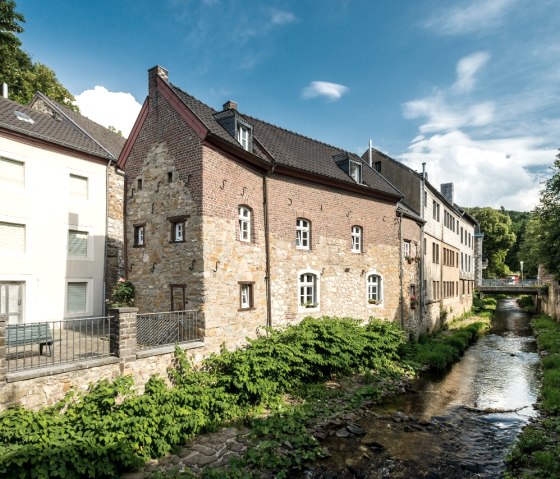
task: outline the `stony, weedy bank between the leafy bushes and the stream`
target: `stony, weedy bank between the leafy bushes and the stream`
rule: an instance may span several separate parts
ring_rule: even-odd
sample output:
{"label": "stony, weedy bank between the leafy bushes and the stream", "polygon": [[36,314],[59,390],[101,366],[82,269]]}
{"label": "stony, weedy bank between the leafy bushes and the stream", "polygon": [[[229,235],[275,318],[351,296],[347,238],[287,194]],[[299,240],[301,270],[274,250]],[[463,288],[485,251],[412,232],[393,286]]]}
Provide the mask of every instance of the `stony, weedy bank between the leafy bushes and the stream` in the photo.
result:
{"label": "stony, weedy bank between the leafy bushes and the stream", "polygon": [[[420,371],[445,369],[489,325],[489,314],[456,320],[435,336],[407,344],[396,363],[387,363],[386,369],[303,385],[284,395],[265,416],[244,421],[235,430],[223,429],[196,438],[176,454],[151,461],[143,471],[129,477],[295,477],[304,462],[330,456],[328,444],[332,441],[344,441],[352,447],[366,434],[357,423],[368,409],[406,393]],[[379,418],[385,419],[404,430],[438,433],[445,429],[437,421],[419,421],[412,416]]]}

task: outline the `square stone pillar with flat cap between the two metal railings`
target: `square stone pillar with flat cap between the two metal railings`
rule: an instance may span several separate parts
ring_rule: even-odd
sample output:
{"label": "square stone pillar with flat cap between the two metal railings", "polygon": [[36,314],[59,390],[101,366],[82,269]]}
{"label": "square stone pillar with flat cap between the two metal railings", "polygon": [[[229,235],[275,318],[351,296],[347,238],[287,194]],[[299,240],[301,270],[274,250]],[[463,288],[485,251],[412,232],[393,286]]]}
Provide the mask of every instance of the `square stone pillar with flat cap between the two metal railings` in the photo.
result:
{"label": "square stone pillar with flat cap between the two metal railings", "polygon": [[136,318],[138,308],[114,308],[111,314],[109,351],[120,358],[123,374],[128,363],[136,361]]}

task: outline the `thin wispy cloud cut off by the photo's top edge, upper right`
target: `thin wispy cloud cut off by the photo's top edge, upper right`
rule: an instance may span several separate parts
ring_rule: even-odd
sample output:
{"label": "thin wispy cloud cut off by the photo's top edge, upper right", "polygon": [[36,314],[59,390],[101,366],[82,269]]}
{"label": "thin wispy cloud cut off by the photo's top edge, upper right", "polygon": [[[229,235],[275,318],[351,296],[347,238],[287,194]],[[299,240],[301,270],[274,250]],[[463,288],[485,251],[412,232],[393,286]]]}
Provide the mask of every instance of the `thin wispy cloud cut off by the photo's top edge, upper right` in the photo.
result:
{"label": "thin wispy cloud cut off by the photo's top edge, upper right", "polygon": [[463,35],[490,31],[504,21],[517,0],[476,0],[465,6],[438,9],[438,13],[424,22],[429,30],[441,35]]}

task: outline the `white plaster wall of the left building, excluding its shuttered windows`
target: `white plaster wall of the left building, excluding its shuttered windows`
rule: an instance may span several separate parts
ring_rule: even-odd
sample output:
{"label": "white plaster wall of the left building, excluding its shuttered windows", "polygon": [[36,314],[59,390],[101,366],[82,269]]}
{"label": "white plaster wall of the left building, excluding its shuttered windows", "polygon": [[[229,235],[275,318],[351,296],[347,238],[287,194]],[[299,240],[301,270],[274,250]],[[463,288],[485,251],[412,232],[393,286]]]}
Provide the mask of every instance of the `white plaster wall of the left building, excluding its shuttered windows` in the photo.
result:
{"label": "white plaster wall of the left building, excluding its shuttered windows", "polygon": [[[0,312],[11,313],[10,323],[101,315],[107,161],[4,136],[0,158],[19,162],[24,170],[23,185],[0,177],[0,223],[25,229],[22,250],[0,250]],[[71,193],[71,175],[86,179],[85,198]],[[69,257],[69,230],[87,233],[85,257]],[[69,282],[85,283],[83,310],[68,311]]]}

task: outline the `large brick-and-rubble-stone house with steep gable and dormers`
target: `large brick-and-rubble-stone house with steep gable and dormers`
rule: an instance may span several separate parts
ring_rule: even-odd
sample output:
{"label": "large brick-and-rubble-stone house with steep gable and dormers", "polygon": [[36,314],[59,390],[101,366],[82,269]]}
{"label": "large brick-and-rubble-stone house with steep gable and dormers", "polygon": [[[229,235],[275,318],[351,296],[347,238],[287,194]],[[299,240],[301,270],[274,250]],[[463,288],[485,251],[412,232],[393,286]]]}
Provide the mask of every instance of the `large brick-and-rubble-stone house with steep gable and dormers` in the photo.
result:
{"label": "large brick-and-rubble-stone house with steep gable and dormers", "polygon": [[200,309],[211,349],[306,316],[422,329],[418,263],[405,256],[419,254],[423,221],[394,186],[235,102],[212,109],[159,66],[148,79],[119,158],[140,311]]}

